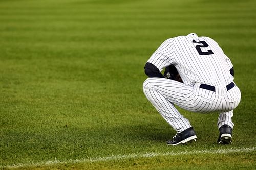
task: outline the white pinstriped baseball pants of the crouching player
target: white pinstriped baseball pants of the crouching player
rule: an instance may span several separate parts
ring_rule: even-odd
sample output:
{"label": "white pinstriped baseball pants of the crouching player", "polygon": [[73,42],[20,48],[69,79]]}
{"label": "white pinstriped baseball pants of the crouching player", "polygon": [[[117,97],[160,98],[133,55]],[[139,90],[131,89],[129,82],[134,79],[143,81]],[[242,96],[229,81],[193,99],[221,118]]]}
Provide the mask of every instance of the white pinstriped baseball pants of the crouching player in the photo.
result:
{"label": "white pinstriped baseball pants of the crouching player", "polygon": [[143,92],[162,117],[177,132],[182,132],[191,125],[174,104],[192,112],[207,113],[220,111],[217,125],[226,124],[233,128],[233,109],[241,100],[237,86],[228,90],[216,87],[216,92],[199,88],[200,84],[188,86],[178,81],[165,78],[148,78],[143,83]]}

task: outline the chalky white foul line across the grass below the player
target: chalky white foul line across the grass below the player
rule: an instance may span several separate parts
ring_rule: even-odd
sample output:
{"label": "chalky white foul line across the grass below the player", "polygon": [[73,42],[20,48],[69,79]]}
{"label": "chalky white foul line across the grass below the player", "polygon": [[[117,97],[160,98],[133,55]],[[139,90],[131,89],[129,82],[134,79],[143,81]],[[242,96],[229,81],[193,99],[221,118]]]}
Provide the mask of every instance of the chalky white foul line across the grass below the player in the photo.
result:
{"label": "chalky white foul line across the grass below the player", "polygon": [[194,150],[194,151],[182,151],[182,152],[165,152],[165,153],[157,153],[157,152],[148,152],[143,154],[128,154],[128,155],[111,155],[107,157],[96,157],[96,158],[83,158],[83,159],[70,159],[66,161],[41,161],[41,162],[28,162],[28,163],[20,163],[13,165],[0,166],[0,168],[24,168],[24,167],[42,167],[42,166],[50,166],[56,164],[74,164],[74,163],[92,163],[92,162],[105,162],[112,160],[122,160],[122,159],[133,159],[133,158],[151,158],[157,156],[178,156],[178,155],[195,155],[195,154],[227,154],[227,153],[238,153],[238,152],[253,152],[256,151],[255,147],[252,148],[229,148],[229,149],[217,149],[217,150]]}

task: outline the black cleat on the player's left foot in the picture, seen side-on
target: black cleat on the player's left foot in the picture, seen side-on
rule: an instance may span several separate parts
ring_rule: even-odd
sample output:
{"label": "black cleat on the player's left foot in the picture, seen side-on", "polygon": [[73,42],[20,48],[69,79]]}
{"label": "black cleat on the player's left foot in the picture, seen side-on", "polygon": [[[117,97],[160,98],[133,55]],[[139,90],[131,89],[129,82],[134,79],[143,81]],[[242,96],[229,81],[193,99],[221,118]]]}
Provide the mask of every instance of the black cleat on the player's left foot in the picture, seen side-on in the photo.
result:
{"label": "black cleat on the player's left foot in the picture, seen side-on", "polygon": [[193,127],[188,128],[180,133],[177,133],[174,137],[173,140],[169,140],[167,141],[168,145],[178,145],[178,144],[184,144],[187,142],[192,142],[192,141],[196,141],[197,140],[197,136],[195,131],[193,130]]}

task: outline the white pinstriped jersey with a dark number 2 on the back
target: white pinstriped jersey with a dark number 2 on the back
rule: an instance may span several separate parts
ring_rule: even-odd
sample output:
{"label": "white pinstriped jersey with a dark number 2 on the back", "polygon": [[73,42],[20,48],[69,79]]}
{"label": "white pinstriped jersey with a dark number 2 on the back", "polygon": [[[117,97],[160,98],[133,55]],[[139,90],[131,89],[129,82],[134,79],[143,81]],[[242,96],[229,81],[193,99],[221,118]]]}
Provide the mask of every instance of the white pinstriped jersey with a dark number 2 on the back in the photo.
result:
{"label": "white pinstriped jersey with a dark number 2 on the back", "polygon": [[191,33],[167,39],[148,59],[161,72],[175,65],[184,84],[204,83],[223,87],[233,81],[229,70],[233,67],[216,41]]}

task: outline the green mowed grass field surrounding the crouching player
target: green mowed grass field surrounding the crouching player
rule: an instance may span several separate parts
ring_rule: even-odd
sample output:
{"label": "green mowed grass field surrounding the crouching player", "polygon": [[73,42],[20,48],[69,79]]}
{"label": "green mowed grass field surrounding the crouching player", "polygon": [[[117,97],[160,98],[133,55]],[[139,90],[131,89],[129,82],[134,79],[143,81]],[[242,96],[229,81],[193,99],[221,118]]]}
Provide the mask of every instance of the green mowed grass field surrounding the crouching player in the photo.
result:
{"label": "green mowed grass field surrounding the crouching player", "polygon": [[[198,140],[167,146],[143,94],[150,55],[191,32],[234,65],[232,145],[180,110]],[[0,169],[256,169],[255,44],[255,1],[0,0]]]}

